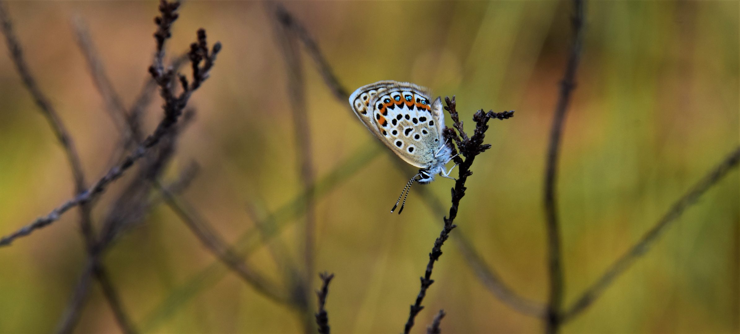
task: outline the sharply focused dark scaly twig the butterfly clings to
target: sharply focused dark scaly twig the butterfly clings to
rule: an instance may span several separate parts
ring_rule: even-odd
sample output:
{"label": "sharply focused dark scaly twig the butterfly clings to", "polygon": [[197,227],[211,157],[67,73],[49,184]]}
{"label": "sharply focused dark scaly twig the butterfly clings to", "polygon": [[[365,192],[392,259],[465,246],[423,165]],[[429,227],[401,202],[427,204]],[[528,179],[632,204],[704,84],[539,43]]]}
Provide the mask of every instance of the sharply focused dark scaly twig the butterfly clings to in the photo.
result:
{"label": "sharply focused dark scaly twig the butterfly clings to", "polygon": [[[455,143],[457,143],[457,148],[460,149],[460,154],[465,157],[465,160],[462,160],[462,157],[460,156],[455,156],[453,159],[454,162],[458,166],[460,166],[460,176],[455,181],[455,187],[452,188],[452,205],[450,207],[449,218],[444,217],[445,225],[440,232],[440,236],[437,238],[437,240],[434,241],[434,247],[431,248],[431,253],[429,253],[429,262],[426,265],[424,277],[421,278],[421,290],[417,295],[416,302],[411,305],[411,310],[408,313],[408,321],[406,321],[406,326],[403,329],[403,333],[405,334],[411,332],[411,327],[414,327],[414,318],[416,318],[417,314],[424,308],[423,306],[421,306],[421,303],[424,299],[424,296],[426,296],[426,290],[432,283],[434,283],[434,280],[431,279],[431,270],[434,268],[434,262],[437,261],[437,259],[440,259],[440,256],[442,255],[442,245],[444,244],[445,240],[447,240],[452,229],[457,227],[457,225],[454,225],[453,222],[455,217],[457,217],[457,210],[458,206],[460,205],[460,200],[462,199],[462,197],[465,196],[465,189],[467,189],[465,188],[465,181],[468,180],[468,177],[473,174],[473,172],[470,171],[470,167],[478,154],[481,154],[485,150],[491,148],[490,144],[483,144],[485,131],[488,130],[488,120],[490,120],[491,118],[505,119],[514,116],[513,111],[485,113],[481,109],[473,115],[473,120],[475,121],[476,126],[473,136],[468,137],[468,134],[466,134],[465,131],[462,129],[462,122],[460,122],[460,119],[457,115],[454,96],[452,97],[452,100],[445,97],[445,103],[447,103],[447,106],[445,106],[445,110],[450,112],[450,116],[454,121],[453,126],[455,129],[457,129],[457,132],[455,132],[455,129],[445,128],[443,132],[445,140],[449,140],[449,146],[452,149],[451,154],[453,155],[457,153],[457,150],[454,149],[454,146],[451,142],[454,141]],[[458,132],[460,135],[458,135]]]}

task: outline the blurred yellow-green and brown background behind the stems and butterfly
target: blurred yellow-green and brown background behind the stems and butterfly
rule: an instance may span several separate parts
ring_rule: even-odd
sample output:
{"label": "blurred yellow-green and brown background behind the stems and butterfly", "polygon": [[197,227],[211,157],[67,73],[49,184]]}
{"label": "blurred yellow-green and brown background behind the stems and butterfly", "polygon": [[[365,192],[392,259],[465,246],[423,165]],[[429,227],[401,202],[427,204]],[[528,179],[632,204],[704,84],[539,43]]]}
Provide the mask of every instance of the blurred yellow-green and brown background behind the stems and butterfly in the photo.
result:
{"label": "blurred yellow-green and brown background behind the stems and butterfly", "polygon": [[[75,42],[73,16],[90,27],[126,105],[148,78],[156,1],[11,1],[16,32],[42,89],[81,153],[88,180],[110,166],[118,132]],[[289,1],[347,89],[411,81],[476,109],[514,109],[492,120],[468,179],[453,234],[471,240],[517,293],[547,296],[542,183],[545,148],[571,28],[559,1]],[[671,203],[740,140],[738,1],[591,1],[578,86],[565,124],[559,178],[565,304],[655,224]],[[249,256],[276,281],[300,262],[301,193],[286,66],[258,1],[188,1],[168,44],[195,30],[221,41],[211,78],[166,177],[192,160],[201,172],[184,198],[229,242],[280,217],[280,234]],[[0,234],[47,214],[73,193],[61,147],[7,53],[0,52]],[[335,333],[398,333],[441,217],[412,189],[403,214],[388,209],[407,180],[377,140],[323,83],[303,54],[317,180],[316,270],[335,273],[327,309]],[[161,118],[147,111],[147,132]],[[449,118],[447,120],[450,122]],[[124,180],[126,180],[124,178]],[[120,182],[124,182],[123,180]],[[321,182],[321,181],[320,181]],[[445,203],[451,180],[425,190]],[[420,188],[420,187],[419,187]],[[644,258],[565,333],[737,333],[739,177],[731,172],[687,210]],[[95,219],[121,186],[96,204]],[[84,265],[78,211],[0,249],[0,332],[53,331]],[[249,232],[252,231],[252,232]],[[269,247],[285,248],[278,265]],[[443,248],[414,332],[440,308],[445,333],[536,333],[538,318],[502,304],[477,280],[454,239]],[[300,318],[229,273],[165,205],[106,254],[113,282],[145,333],[295,333]],[[314,281],[312,286],[318,287]],[[312,301],[313,303],[314,301]],[[78,333],[118,327],[97,285]]]}

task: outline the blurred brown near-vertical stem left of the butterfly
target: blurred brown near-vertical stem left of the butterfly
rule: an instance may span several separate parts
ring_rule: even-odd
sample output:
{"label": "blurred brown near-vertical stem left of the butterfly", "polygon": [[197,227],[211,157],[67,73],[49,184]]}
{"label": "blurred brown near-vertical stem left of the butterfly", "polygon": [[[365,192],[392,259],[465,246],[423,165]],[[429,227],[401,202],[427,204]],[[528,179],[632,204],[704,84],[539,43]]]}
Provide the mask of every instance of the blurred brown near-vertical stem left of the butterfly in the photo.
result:
{"label": "blurred brown near-vertical stem left of the butterfly", "polygon": [[[309,127],[309,117],[306,112],[306,89],[303,78],[303,66],[300,59],[300,50],[298,48],[297,33],[290,29],[292,18],[286,16],[286,11],[279,4],[267,2],[266,7],[269,13],[275,17],[275,37],[280,45],[281,53],[285,58],[286,69],[288,72],[287,94],[293,112],[293,129],[295,130],[295,145],[299,161],[300,180],[303,188],[308,190],[312,188],[315,182],[313,170],[313,157],[311,149],[311,129]],[[306,196],[306,228],[303,240],[303,262],[304,275],[303,282],[297,282],[301,289],[297,289],[298,295],[296,302],[306,307],[309,312],[309,287],[312,286],[314,276],[314,235],[315,235],[315,200],[313,194],[307,192]],[[299,236],[300,237],[300,236]],[[303,291],[300,291],[303,290]],[[303,295],[303,296],[300,296]],[[310,327],[313,327],[310,325]],[[309,324],[306,324],[306,333]]]}

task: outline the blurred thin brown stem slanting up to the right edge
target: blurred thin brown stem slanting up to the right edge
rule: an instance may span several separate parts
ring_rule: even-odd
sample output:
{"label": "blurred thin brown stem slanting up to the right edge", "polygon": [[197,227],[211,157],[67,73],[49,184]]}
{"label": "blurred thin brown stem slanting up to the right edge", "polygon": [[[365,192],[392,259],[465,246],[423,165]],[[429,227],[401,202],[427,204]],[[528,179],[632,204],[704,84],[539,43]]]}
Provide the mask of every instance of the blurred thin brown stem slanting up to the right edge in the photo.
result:
{"label": "blurred thin brown stem slanting up to the right edge", "polygon": [[656,223],[650,231],[647,231],[642,239],[637,242],[627,253],[616,260],[605,273],[581,295],[571,307],[563,312],[562,322],[570,321],[582,313],[589,305],[596,301],[614,280],[624,273],[628,268],[645,255],[650,247],[662,236],[665,231],[676,221],[691,205],[695,204],[709,188],[722,179],[728,172],[738,166],[740,162],[740,146],[724,158],[707,175],[702,177],[686,194],[673,203],[665,215]]}

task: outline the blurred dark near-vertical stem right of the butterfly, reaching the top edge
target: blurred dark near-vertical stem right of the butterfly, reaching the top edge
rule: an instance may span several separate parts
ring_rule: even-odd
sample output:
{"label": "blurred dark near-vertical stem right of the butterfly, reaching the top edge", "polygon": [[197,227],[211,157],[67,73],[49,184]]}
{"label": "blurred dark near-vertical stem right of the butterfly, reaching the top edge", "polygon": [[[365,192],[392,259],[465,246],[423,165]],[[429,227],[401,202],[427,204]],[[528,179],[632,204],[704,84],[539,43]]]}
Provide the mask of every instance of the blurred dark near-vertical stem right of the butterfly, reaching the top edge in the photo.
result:
{"label": "blurred dark near-vertical stem right of the butterfly, reaching the top edge", "polygon": [[560,81],[560,95],[555,107],[555,114],[548,143],[547,163],[545,165],[545,217],[548,239],[548,273],[550,296],[547,312],[543,317],[545,332],[556,333],[560,327],[560,308],[563,296],[562,255],[560,252],[560,231],[557,213],[557,164],[560,151],[560,140],[565,123],[565,114],[576,86],[576,69],[581,55],[583,39],[583,0],[573,0],[573,45],[568,55],[565,75]]}

